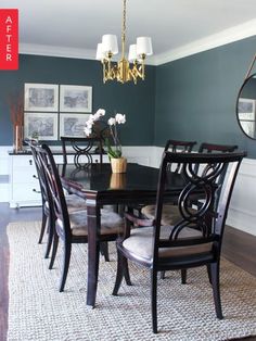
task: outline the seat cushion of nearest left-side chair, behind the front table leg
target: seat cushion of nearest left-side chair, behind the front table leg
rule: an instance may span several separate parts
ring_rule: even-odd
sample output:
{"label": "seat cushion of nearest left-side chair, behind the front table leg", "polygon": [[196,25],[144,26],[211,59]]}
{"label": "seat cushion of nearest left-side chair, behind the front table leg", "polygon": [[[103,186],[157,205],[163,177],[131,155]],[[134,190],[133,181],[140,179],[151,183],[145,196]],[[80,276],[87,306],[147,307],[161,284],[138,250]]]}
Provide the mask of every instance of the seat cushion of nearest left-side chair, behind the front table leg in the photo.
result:
{"label": "seat cushion of nearest left-side chair, behind the front table leg", "polygon": [[[73,236],[87,236],[87,211],[69,213],[71,229]],[[101,235],[118,235],[124,229],[124,219],[119,214],[101,210]]]}

